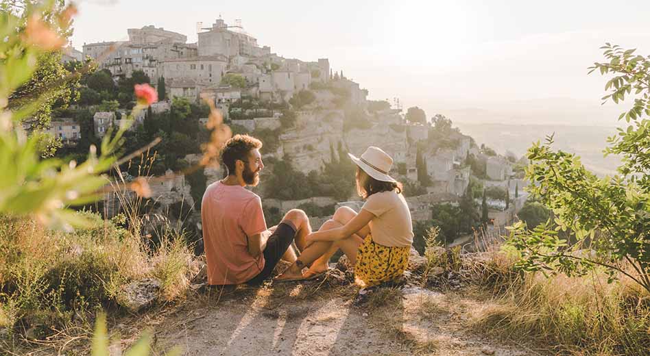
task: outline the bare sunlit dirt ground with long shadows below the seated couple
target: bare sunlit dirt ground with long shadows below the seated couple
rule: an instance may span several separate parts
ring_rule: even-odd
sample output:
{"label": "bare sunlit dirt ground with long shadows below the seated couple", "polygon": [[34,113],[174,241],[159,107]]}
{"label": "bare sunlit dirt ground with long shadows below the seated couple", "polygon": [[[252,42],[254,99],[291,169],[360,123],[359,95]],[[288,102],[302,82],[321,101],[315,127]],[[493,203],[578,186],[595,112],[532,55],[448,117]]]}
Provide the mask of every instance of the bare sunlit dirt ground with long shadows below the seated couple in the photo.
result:
{"label": "bare sunlit dirt ground with long shadows below the seated couple", "polygon": [[154,353],[184,355],[538,355],[468,331],[481,307],[459,293],[385,288],[354,305],[354,288],[319,283],[199,294],[156,329]]}

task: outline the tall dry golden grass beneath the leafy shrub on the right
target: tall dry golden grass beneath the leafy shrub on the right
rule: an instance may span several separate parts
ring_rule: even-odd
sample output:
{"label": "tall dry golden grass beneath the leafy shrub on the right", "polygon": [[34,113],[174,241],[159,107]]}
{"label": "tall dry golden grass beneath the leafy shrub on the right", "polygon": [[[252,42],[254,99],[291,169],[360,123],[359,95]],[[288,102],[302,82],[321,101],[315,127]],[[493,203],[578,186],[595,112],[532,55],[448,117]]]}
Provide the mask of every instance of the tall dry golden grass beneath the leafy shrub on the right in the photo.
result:
{"label": "tall dry golden grass beneath the leafy shrub on the right", "polygon": [[604,272],[546,278],[514,271],[506,253],[483,257],[474,281],[492,301],[473,313],[478,332],[570,355],[650,354],[650,296],[630,281],[607,283]]}

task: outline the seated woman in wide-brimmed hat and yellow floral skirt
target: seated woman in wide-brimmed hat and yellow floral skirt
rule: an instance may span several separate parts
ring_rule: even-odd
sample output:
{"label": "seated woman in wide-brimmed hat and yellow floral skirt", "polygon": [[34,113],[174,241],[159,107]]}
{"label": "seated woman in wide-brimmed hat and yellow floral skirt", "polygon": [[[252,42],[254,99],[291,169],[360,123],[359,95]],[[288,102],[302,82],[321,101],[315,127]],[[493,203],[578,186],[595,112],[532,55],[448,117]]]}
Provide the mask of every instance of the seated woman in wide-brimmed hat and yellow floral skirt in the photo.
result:
{"label": "seated woman in wide-brimmed hat and yellow floral skirt", "polygon": [[[413,224],[402,185],[388,175],[392,158],[377,147],[368,147],[360,158],[348,155],[357,164],[357,192],[365,199],[361,211],[337,209],[332,220],[306,237],[306,249],[277,281],[321,275],[338,249],[348,256],[357,282],[365,288],[400,277],[407,268]],[[303,273],[306,266],[311,267]]]}

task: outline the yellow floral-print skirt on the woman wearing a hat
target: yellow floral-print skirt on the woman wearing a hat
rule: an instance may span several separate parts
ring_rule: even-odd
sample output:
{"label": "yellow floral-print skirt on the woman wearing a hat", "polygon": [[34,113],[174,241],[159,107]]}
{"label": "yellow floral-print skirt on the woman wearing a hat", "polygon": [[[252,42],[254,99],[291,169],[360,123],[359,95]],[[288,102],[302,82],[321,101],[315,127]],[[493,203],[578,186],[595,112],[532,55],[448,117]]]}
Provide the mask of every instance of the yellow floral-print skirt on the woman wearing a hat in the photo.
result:
{"label": "yellow floral-print skirt on the woman wearing a hat", "polygon": [[370,233],[357,251],[354,277],[365,287],[372,287],[400,277],[409,266],[411,247],[382,246],[372,240]]}

